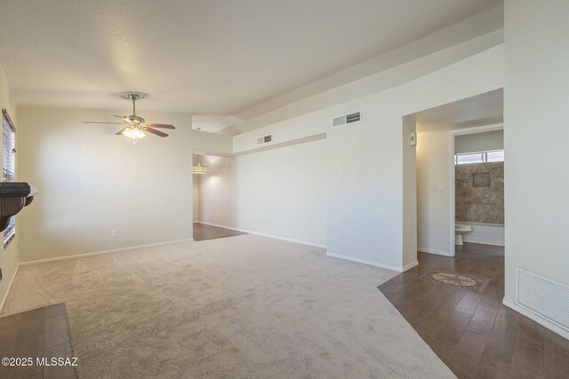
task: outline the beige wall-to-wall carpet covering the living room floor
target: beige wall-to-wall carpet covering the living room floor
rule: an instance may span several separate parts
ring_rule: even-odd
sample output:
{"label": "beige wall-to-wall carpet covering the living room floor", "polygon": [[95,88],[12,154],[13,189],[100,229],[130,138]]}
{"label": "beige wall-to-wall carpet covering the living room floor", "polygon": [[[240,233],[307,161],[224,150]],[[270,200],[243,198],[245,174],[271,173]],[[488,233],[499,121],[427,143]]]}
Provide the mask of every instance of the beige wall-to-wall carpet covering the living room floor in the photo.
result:
{"label": "beige wall-to-wall carpet covering the living room floor", "polygon": [[242,235],[23,265],[3,312],[65,302],[82,378],[454,377],[394,274]]}

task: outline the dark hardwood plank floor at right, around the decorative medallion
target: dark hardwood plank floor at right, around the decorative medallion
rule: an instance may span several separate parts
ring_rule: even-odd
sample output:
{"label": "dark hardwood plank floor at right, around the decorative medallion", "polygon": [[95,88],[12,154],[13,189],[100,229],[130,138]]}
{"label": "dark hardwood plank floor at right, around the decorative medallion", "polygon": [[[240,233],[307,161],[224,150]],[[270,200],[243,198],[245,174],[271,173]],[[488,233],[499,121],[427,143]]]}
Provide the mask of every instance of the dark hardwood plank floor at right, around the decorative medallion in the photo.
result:
{"label": "dark hardwood plank floor at right, around the decorative medallion", "polygon": [[[381,292],[459,378],[569,378],[569,341],[501,304],[503,248],[466,243],[456,257],[419,253],[419,265]],[[490,280],[482,294],[421,276],[434,268]]]}

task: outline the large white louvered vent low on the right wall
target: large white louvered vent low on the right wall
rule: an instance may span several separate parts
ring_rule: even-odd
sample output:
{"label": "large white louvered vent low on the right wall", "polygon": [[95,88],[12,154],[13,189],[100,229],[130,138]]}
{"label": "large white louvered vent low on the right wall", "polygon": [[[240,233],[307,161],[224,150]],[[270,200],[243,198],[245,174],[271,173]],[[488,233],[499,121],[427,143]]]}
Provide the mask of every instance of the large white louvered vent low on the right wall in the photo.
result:
{"label": "large white louvered vent low on the right wall", "polygon": [[569,331],[569,286],[516,270],[517,304]]}

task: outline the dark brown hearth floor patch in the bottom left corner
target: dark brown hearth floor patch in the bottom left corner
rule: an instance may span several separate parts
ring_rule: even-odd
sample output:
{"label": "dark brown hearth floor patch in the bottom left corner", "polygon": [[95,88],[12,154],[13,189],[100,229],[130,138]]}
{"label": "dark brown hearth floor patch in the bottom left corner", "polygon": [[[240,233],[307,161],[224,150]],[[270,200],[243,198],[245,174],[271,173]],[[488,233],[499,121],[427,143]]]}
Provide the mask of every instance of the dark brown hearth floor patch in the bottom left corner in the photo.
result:
{"label": "dark brown hearth floor patch in the bottom left corner", "polygon": [[[66,363],[65,359],[72,362],[72,357],[63,304],[0,318],[0,358],[30,359],[26,366],[1,365],[0,378],[75,378],[75,367],[59,366],[57,361],[53,365],[51,360],[64,359],[61,362]],[[47,364],[38,362],[37,358],[46,359]]]}

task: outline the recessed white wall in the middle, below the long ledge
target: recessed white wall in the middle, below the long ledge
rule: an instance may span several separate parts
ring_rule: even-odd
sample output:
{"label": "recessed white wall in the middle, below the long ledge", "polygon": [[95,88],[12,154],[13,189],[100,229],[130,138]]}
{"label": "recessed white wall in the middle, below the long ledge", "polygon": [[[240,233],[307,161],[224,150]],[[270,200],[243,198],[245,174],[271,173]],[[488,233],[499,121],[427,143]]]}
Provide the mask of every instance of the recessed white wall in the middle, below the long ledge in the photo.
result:
{"label": "recessed white wall in the middle, below the long ledge", "polygon": [[325,139],[223,157],[200,155],[199,221],[325,246]]}

